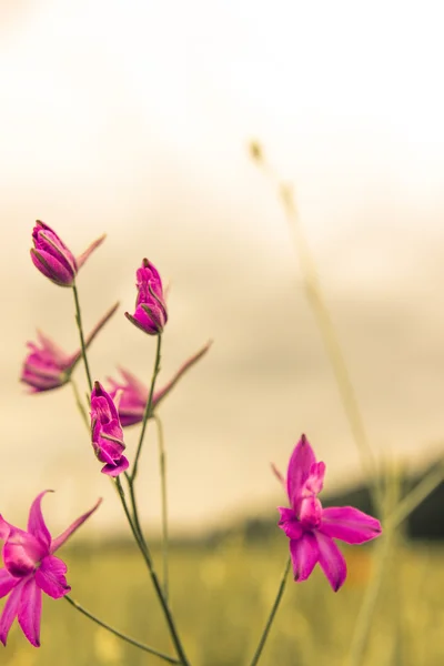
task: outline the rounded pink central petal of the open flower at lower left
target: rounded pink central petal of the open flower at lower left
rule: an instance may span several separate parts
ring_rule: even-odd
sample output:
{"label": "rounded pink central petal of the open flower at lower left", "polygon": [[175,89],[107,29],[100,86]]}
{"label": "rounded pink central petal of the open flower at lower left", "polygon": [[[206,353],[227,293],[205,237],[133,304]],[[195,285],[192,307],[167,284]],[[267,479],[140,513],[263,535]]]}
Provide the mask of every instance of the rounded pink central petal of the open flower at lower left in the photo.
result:
{"label": "rounded pink central petal of the open flower at lower left", "polygon": [[3,563],[13,576],[32,573],[40,559],[47,555],[46,546],[32,534],[12,527],[3,546]]}

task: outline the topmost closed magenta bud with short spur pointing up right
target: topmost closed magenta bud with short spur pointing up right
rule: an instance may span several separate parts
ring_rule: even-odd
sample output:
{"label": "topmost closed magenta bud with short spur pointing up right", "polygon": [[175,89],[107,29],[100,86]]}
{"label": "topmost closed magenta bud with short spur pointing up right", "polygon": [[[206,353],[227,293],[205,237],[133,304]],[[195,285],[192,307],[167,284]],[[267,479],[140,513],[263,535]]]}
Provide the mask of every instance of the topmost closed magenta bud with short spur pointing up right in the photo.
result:
{"label": "topmost closed magenta bud with short spur pointing up right", "polygon": [[91,252],[104,240],[104,234],[97,239],[77,259],[67,248],[58,234],[44,222],[37,220],[32,230],[34,246],[31,249],[31,259],[34,266],[49,280],[60,286],[72,286],[79,269],[84,264]]}

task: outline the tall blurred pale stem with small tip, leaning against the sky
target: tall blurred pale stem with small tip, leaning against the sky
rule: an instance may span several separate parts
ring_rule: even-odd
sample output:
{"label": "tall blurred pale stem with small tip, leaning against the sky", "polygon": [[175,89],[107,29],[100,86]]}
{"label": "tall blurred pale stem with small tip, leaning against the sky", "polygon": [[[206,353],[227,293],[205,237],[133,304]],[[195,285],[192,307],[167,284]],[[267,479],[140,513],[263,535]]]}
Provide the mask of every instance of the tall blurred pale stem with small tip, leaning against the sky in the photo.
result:
{"label": "tall blurred pale stem with small tip, leaning against the sky", "polygon": [[382,491],[380,487],[374,455],[365,431],[364,421],[357,404],[353,384],[350,379],[345,357],[342,353],[333,321],[322,293],[315,262],[310,252],[309,244],[302,230],[296,203],[294,201],[293,190],[290,184],[281,181],[281,179],[266,162],[260,143],[250,143],[250,154],[278,188],[279,198],[284,206],[285,215],[293,235],[294,248],[300,260],[306,297],[317,322],[321,337],[334,372],[342,404],[344,406],[354,441],[361,454],[364,471],[370,480],[370,483],[372,484],[371,492],[374,504],[377,511],[381,512]]}

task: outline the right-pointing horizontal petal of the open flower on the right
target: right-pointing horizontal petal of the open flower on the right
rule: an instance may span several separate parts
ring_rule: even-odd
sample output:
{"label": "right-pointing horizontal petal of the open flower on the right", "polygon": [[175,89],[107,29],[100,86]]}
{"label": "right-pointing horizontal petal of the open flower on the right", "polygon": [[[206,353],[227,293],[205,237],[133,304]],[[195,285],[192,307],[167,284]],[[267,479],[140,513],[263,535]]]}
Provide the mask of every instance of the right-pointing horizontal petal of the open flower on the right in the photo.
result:
{"label": "right-pointing horizontal petal of the open flower on the right", "polygon": [[320,532],[347,544],[363,544],[382,532],[381,523],[353,506],[324,508]]}

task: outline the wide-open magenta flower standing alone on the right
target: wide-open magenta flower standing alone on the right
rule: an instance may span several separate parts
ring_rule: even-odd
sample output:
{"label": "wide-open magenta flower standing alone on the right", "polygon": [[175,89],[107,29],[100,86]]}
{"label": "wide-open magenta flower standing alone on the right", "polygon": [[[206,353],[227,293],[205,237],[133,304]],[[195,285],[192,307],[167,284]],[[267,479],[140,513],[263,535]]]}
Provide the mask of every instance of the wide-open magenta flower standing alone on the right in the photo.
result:
{"label": "wide-open magenta flower standing alone on the right", "polygon": [[337,592],[346,577],[346,564],[333,539],[362,544],[380,536],[381,523],[352,506],[323,508],[317,493],[322,491],[324,474],[325,464],[316,463],[309,441],[302,435],[286,473],[290,508],[279,507],[279,526],[290,538],[294,579],[306,581],[319,562]]}

